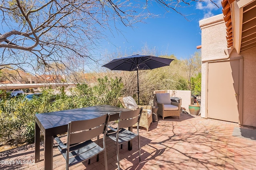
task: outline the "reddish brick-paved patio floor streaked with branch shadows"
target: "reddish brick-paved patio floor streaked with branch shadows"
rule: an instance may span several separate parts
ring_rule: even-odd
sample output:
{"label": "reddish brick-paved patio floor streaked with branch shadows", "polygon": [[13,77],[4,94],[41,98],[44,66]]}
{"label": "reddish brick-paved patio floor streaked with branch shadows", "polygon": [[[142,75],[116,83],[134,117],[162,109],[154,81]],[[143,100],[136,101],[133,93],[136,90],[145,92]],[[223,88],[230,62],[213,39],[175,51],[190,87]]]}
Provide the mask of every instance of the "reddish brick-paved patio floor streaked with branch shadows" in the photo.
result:
{"label": "reddish brick-paved patio floor streaked with branch shadows", "polygon": [[[251,139],[233,136],[234,128],[251,129]],[[134,129],[135,130],[135,129]],[[250,136],[248,136],[250,137]],[[256,169],[256,129],[239,126],[237,123],[202,119],[198,116],[181,113],[180,119],[159,117],[150,125],[147,132],[140,129],[142,161],[138,159],[138,143],[133,142],[133,150],[124,144],[120,149],[120,166],[123,170],[184,170]],[[116,149],[106,138],[108,169],[117,169]],[[0,169],[44,169],[43,143],[40,146],[40,162],[34,163],[34,144],[0,152]],[[53,150],[53,168],[65,169],[65,160],[57,147]],[[13,164],[4,164],[10,163]],[[25,161],[25,162],[24,162]],[[27,162],[26,162],[27,161]],[[70,169],[104,169],[104,156],[77,164]]]}

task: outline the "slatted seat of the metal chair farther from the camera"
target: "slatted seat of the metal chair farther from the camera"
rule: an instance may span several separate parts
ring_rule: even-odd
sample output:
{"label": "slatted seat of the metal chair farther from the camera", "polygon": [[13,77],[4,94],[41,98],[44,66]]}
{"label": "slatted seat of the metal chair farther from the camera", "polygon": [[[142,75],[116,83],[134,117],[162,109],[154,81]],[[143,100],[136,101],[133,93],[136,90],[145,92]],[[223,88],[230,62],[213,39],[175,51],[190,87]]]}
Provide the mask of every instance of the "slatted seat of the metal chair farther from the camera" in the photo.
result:
{"label": "slatted seat of the metal chair farther from the camera", "polygon": [[[106,136],[112,139],[113,141],[116,141],[116,133],[117,132],[114,130],[108,130]],[[126,129],[120,129],[118,134],[118,145],[130,141],[131,139],[134,139],[134,137],[136,136],[138,136],[138,134],[132,133],[131,131],[128,131]]]}

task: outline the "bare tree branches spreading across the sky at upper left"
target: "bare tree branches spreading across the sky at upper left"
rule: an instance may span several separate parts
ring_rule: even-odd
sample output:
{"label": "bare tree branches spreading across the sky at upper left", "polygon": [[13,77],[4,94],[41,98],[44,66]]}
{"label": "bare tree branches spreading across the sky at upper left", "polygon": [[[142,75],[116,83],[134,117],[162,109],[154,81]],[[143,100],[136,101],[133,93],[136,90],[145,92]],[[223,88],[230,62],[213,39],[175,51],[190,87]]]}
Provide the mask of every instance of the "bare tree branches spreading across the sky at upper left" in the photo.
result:
{"label": "bare tree branches spreading across the sky at upper left", "polygon": [[186,18],[178,9],[191,1],[201,0],[2,0],[0,69],[45,70],[75,60],[84,69],[100,60],[92,53],[106,39],[105,31],[122,34],[117,23],[132,26],[153,17],[148,7],[156,3]]}

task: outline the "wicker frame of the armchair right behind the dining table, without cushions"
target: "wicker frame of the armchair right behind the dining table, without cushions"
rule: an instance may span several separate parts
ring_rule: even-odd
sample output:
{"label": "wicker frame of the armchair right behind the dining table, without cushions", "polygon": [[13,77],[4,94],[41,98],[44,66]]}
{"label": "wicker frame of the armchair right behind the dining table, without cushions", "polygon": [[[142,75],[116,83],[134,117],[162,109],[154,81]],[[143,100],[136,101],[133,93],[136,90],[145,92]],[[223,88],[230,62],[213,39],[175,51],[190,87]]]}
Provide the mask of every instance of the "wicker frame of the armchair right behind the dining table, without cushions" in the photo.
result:
{"label": "wicker frame of the armchair right behind the dining table, without cushions", "polygon": [[[120,97],[118,99],[120,100],[122,106],[124,108],[127,108],[126,104],[124,104],[123,98],[124,97]],[[141,117],[140,117],[140,127],[144,127],[148,131],[150,124],[153,122],[153,120],[152,120],[152,106],[146,106],[146,105],[145,106],[137,105],[137,106],[139,108],[143,107],[142,114],[141,114]],[[134,109],[136,109],[136,108],[134,108]],[[151,110],[150,115],[148,114],[148,110]],[[135,125],[133,125],[133,127],[137,127],[137,123]]]}

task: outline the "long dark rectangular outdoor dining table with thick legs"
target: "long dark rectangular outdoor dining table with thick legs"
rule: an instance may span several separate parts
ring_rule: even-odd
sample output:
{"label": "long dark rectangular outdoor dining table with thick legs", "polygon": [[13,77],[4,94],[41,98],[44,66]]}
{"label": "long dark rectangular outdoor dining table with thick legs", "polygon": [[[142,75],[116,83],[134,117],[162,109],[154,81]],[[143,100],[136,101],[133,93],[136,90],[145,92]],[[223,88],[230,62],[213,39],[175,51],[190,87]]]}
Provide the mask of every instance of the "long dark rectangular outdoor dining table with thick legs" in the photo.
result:
{"label": "long dark rectangular outdoor dining table with thick legs", "polygon": [[[54,135],[66,133],[69,121],[93,119],[107,113],[110,113],[110,121],[113,121],[118,119],[120,111],[129,111],[129,109],[100,105],[36,114],[35,162],[40,161],[40,131],[44,135],[44,169],[51,170]],[[132,127],[129,130],[132,131]],[[128,143],[128,149],[132,150],[132,142]]]}

